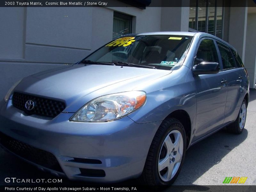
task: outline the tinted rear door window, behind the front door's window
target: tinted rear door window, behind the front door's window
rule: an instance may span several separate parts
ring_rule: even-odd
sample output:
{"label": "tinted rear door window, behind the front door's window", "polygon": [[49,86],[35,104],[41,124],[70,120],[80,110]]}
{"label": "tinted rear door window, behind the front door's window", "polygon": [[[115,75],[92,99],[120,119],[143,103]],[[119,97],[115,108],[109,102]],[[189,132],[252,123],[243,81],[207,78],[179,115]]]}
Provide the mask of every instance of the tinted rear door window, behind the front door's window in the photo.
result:
{"label": "tinted rear door window, behind the front door's window", "polygon": [[236,61],[234,60],[229,47],[220,42],[217,42],[217,45],[220,50],[223,69],[236,68]]}

